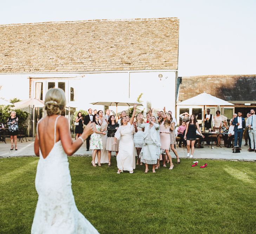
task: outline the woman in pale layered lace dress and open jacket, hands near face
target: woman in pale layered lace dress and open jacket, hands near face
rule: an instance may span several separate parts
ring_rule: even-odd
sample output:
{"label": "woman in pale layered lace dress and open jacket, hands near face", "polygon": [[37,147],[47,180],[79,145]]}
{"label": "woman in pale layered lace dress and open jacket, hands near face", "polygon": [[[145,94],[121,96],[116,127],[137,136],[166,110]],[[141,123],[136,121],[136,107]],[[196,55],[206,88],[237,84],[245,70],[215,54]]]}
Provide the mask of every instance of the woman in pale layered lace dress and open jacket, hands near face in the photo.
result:
{"label": "woman in pale layered lace dress and open jacket, hands near face", "polygon": [[155,166],[160,155],[159,124],[155,116],[151,116],[149,123],[139,123],[138,126],[145,128],[143,134],[143,147],[140,152],[140,161],[145,163],[145,173],[149,171],[149,164],[153,165],[152,172],[155,173]]}

